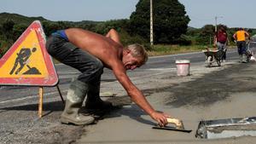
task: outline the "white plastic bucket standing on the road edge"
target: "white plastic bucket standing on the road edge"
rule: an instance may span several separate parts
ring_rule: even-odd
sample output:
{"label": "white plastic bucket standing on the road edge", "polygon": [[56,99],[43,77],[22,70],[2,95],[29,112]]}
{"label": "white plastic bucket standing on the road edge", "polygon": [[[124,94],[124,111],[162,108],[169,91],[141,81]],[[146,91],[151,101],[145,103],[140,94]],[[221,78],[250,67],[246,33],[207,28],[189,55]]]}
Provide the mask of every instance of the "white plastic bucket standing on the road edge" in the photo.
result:
{"label": "white plastic bucket standing on the road edge", "polygon": [[189,60],[176,60],[177,76],[189,76]]}

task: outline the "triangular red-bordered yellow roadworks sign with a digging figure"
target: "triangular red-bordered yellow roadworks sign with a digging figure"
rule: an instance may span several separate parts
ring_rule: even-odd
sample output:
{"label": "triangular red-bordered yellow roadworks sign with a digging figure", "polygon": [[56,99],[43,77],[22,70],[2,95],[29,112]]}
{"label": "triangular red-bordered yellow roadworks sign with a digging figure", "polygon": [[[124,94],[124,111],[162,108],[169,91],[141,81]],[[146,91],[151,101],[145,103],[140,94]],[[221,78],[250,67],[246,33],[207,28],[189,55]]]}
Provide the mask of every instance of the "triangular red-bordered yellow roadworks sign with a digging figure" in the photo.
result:
{"label": "triangular red-bordered yellow roadworks sign with a digging figure", "polygon": [[0,60],[0,85],[55,86],[58,81],[43,27],[33,21]]}

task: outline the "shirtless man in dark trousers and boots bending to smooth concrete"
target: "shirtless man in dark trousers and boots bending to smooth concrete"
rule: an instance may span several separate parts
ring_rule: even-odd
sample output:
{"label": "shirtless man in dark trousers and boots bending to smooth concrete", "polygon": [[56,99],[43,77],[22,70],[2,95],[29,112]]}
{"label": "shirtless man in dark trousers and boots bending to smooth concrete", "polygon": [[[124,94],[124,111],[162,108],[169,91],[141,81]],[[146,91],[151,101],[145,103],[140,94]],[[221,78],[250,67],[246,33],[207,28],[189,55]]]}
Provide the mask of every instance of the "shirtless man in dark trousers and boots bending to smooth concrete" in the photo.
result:
{"label": "shirtless man in dark trousers and boots bending to smooth concrete", "polygon": [[156,112],[142,91],[137,89],[126,75],[126,70],[134,70],[148,60],[143,46],[131,44],[124,47],[120,43],[118,32],[113,29],[106,36],[102,36],[79,28],[69,28],[53,33],[46,43],[46,48],[49,55],[56,60],[82,72],[67,91],[61,123],[84,125],[94,122],[93,117],[79,113],[85,95],[85,108],[103,110],[112,106],[110,102],[102,101],[99,95],[103,67],[108,67],[137,106],[160,126],[167,124],[166,118],[169,116]]}

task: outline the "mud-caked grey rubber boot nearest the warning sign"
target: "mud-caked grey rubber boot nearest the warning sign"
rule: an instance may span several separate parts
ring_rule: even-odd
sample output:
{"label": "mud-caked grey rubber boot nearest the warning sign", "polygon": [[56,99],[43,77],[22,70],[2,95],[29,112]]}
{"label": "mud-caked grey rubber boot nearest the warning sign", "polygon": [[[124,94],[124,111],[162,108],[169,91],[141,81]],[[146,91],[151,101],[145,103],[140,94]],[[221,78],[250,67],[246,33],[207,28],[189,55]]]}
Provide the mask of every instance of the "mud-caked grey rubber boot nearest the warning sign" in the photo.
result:
{"label": "mud-caked grey rubber boot nearest the warning sign", "polygon": [[82,107],[87,90],[87,84],[78,80],[73,81],[67,92],[66,106],[61,114],[61,123],[75,125],[94,123],[93,117],[79,114],[79,109]]}

